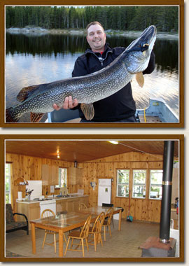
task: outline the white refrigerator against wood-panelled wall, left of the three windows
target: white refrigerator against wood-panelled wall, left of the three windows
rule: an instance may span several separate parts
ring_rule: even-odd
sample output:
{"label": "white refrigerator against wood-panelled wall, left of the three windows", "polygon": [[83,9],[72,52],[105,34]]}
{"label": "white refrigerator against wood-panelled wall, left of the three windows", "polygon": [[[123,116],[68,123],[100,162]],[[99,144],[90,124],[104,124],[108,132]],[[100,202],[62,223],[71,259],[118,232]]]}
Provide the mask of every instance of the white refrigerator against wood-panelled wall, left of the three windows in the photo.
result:
{"label": "white refrigerator against wood-panelled wall, left of the three windows", "polygon": [[111,179],[99,179],[98,206],[111,203]]}

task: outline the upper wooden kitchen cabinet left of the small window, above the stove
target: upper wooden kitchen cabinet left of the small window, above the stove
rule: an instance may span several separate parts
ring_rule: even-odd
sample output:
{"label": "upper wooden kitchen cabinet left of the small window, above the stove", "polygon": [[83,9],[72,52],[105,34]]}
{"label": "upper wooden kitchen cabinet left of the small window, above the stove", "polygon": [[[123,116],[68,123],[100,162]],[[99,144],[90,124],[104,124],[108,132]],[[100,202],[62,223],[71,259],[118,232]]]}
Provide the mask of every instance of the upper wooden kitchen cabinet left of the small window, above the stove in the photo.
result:
{"label": "upper wooden kitchen cabinet left of the small window, above the stove", "polygon": [[43,186],[58,185],[59,183],[58,169],[59,168],[54,165],[42,165],[41,179]]}

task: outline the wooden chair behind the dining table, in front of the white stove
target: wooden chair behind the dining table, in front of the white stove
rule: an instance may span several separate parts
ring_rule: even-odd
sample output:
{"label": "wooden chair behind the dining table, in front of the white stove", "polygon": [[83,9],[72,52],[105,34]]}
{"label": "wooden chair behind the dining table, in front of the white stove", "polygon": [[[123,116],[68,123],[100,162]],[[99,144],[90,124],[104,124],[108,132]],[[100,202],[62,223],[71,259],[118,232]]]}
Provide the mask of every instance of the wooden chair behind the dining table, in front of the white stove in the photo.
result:
{"label": "wooden chair behind the dining table, in front of the white stove", "polygon": [[[50,209],[45,209],[42,214],[41,214],[41,218],[48,218],[50,216],[55,216],[54,211],[50,210]],[[45,243],[45,239],[47,235],[54,235],[54,242],[52,243]],[[42,248],[44,248],[44,245],[48,245],[48,246],[55,246],[55,253],[57,252],[57,245],[56,242],[58,242],[58,240],[56,241],[56,235],[58,234],[58,232],[54,232],[54,231],[50,231],[50,230],[46,230],[45,229],[45,236],[43,239],[43,244],[42,244]],[[63,234],[64,235],[64,234]],[[66,237],[64,235],[64,240],[66,241]],[[66,241],[67,242],[67,241]]]}

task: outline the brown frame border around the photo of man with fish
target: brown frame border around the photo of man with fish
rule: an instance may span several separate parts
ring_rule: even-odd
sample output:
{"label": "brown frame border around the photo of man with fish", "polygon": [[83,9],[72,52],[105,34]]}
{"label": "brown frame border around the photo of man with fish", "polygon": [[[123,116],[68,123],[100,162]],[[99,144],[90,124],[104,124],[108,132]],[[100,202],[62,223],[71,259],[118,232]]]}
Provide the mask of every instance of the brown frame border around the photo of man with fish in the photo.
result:
{"label": "brown frame border around the photo of man with fish", "polygon": [[5,58],[4,58],[4,51],[5,51],[5,14],[4,14],[4,8],[5,6],[16,6],[16,5],[31,5],[31,6],[42,6],[42,5],[59,5],[61,6],[64,4],[64,6],[129,6],[129,5],[140,5],[140,6],[179,6],[179,25],[180,25],[180,32],[179,32],[179,84],[180,84],[180,91],[179,91],[179,123],[5,123],[4,117],[5,117],[5,69],[4,67],[1,67],[0,69],[0,84],[1,89],[3,90],[2,96],[0,99],[0,126],[1,127],[36,127],[36,128],[52,128],[52,127],[72,127],[72,128],[95,128],[95,127],[101,127],[101,128],[115,128],[115,127],[133,127],[133,128],[139,128],[139,127],[161,127],[161,128],[167,128],[167,127],[184,127],[184,0],[170,0],[165,3],[164,0],[104,0],[104,1],[94,1],[91,0],[90,3],[87,0],[65,0],[64,3],[61,0],[1,0],[0,2],[0,66],[5,66]]}

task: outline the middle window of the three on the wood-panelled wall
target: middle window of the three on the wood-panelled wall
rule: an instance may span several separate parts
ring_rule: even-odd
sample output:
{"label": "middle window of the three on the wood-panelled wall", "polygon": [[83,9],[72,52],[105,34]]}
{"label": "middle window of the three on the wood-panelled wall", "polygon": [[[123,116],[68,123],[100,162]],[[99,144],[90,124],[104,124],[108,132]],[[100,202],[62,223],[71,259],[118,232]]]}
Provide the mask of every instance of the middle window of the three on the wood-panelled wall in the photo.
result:
{"label": "middle window of the three on the wood-panelled wall", "polygon": [[146,197],[146,170],[133,170],[132,197]]}

